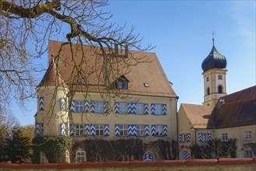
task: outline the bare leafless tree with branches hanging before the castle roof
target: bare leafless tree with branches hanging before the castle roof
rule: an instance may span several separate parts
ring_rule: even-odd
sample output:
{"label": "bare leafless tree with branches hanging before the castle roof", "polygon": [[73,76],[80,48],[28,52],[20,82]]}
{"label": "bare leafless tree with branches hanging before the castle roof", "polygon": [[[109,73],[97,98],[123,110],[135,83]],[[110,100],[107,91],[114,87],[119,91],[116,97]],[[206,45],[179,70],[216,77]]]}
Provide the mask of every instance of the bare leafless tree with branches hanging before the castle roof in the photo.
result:
{"label": "bare leafless tree with branches hanging before the castle roof", "polygon": [[[34,95],[34,87],[38,84],[36,73],[43,69],[37,59],[47,51],[51,37],[65,37],[58,54],[53,54],[57,67],[63,48],[70,48],[74,65],[72,76],[82,78],[85,84],[89,72],[81,70],[82,61],[86,61],[83,45],[95,47],[92,51],[103,57],[97,76],[100,79],[103,75],[104,86],[108,88],[108,80],[112,80],[113,75],[128,73],[129,66],[148,61],[144,57],[134,58],[130,51],[125,52],[130,54],[128,59],[110,58],[115,56],[114,45],[139,51],[149,51],[153,47],[141,46],[142,39],[139,34],[134,34],[134,27],[124,33],[124,26],[110,23],[110,13],[103,11],[106,5],[107,0],[1,0],[0,103],[8,104],[10,100],[18,99],[24,106],[23,99]],[[82,51],[82,61],[75,61],[75,51]],[[69,85],[75,79],[70,80]],[[73,94],[71,91],[69,96]]]}

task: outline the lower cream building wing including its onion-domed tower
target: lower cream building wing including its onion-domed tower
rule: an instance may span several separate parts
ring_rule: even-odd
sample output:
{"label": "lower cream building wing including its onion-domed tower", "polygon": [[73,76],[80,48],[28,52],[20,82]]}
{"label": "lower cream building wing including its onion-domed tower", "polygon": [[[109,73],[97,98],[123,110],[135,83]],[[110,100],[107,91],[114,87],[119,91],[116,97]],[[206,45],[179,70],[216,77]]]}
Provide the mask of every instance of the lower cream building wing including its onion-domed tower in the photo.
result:
{"label": "lower cream building wing including its onion-domed tower", "polygon": [[226,58],[214,45],[202,62],[204,102],[181,103],[179,159],[252,158],[256,154],[256,86],[226,94]]}

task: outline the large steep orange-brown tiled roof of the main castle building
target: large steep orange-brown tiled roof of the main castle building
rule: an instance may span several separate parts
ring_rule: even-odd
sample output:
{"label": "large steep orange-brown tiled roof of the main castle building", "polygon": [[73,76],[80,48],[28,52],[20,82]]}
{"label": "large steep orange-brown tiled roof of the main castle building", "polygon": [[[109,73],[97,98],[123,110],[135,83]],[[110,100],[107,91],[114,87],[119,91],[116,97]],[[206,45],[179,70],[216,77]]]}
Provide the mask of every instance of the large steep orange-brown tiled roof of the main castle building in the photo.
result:
{"label": "large steep orange-brown tiled roof of the main castle building", "polygon": [[[49,61],[51,61],[52,56],[55,57],[58,54],[61,44],[63,42],[49,41]],[[82,46],[81,50],[81,47],[76,47],[73,44],[73,51],[72,56],[70,46],[65,45],[62,48],[61,55],[54,60],[65,84],[70,88],[71,85],[74,85],[74,80],[79,79],[80,75],[75,72],[79,67],[83,75],[86,75],[86,78],[82,78],[82,83],[75,86],[76,90],[98,92],[99,89],[106,89],[103,79],[103,56],[100,48]],[[82,53],[86,58],[81,58]],[[130,51],[130,53],[135,59],[139,60],[145,57],[150,62],[135,63],[134,60],[132,61],[129,58],[107,58],[107,69],[110,73],[110,80],[108,81],[110,83],[124,75],[129,80],[129,83],[128,89],[122,89],[121,93],[147,96],[177,96],[155,53],[142,51]],[[73,61],[81,65],[75,68]],[[121,69],[117,70],[117,68]],[[149,87],[144,86],[144,83],[148,83]]]}

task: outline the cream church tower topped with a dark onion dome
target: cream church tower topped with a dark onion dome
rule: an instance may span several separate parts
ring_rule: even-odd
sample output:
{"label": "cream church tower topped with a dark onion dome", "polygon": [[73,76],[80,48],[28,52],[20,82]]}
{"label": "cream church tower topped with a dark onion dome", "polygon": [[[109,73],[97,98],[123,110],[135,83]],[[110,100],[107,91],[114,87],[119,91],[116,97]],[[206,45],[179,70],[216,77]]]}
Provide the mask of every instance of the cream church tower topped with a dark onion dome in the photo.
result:
{"label": "cream church tower topped with a dark onion dome", "polygon": [[212,38],[212,51],[202,62],[204,77],[204,105],[215,106],[221,96],[226,96],[226,58],[219,54]]}

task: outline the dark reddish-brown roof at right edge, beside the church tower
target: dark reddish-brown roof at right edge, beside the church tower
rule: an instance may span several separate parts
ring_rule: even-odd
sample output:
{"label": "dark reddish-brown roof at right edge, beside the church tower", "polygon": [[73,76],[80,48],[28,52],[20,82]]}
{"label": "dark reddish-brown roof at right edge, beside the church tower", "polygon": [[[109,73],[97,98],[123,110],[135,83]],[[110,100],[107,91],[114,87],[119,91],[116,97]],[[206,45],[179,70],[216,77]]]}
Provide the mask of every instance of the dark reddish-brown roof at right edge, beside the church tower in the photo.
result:
{"label": "dark reddish-brown roof at right edge, beside the church tower", "polygon": [[222,104],[216,104],[212,115],[216,128],[256,125],[256,86],[223,96]]}

